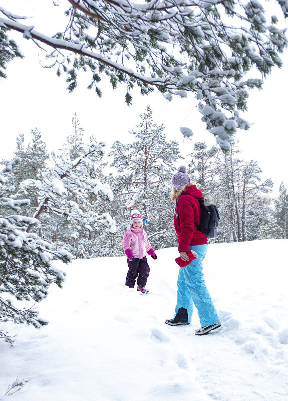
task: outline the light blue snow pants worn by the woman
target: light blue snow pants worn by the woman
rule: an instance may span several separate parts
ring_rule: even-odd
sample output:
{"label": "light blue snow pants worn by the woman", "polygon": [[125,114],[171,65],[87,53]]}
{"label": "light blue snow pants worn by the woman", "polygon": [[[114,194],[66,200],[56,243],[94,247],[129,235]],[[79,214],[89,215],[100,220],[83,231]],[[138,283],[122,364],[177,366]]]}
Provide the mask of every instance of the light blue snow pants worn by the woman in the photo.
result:
{"label": "light blue snow pants worn by the woman", "polygon": [[188,266],[180,267],[177,280],[178,292],[175,316],[179,308],[185,308],[188,311],[188,321],[191,322],[194,302],[198,310],[201,327],[220,322],[203,280],[202,261],[205,258],[207,247],[207,245],[189,247],[189,251],[197,252],[198,258],[194,259]]}

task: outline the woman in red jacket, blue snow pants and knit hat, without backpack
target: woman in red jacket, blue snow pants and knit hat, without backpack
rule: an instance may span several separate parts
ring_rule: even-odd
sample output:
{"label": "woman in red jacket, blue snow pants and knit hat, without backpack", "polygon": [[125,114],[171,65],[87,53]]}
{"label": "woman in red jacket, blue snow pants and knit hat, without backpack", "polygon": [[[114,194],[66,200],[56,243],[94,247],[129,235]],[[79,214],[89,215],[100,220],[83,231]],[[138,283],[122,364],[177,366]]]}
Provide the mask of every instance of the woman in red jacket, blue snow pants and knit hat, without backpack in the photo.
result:
{"label": "woman in red jacket, blue snow pants and knit hat, without backpack", "polygon": [[171,326],[190,324],[193,302],[198,310],[201,328],[197,335],[209,333],[221,326],[220,319],[205,286],[202,273],[202,261],[207,252],[207,238],[197,229],[200,225],[200,204],[197,198],[204,198],[196,183],[191,182],[186,167],[180,166],[172,177],[171,198],[176,202],[174,227],[178,235],[178,250],[183,261],[188,262],[188,251],[194,259],[185,267],[180,267],[177,280],[177,305],[173,319],[165,320]]}

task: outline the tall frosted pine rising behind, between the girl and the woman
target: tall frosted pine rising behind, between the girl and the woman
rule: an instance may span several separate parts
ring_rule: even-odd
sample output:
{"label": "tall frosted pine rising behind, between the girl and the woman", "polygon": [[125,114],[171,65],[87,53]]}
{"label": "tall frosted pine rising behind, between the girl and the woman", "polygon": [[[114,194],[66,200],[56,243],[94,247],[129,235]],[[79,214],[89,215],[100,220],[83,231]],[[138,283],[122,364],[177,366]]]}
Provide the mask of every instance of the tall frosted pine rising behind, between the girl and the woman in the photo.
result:
{"label": "tall frosted pine rising behind, between the girl and the woman", "polygon": [[153,123],[150,107],[140,118],[142,121],[136,126],[137,130],[131,131],[136,141],[128,145],[116,141],[110,152],[111,165],[119,172],[113,190],[115,198],[122,202],[117,221],[124,219],[127,225],[131,210],[138,209],[149,222],[146,230],[153,247],[173,246],[174,205],[170,190],[174,165],[180,157],[178,144],[168,142],[164,126]]}

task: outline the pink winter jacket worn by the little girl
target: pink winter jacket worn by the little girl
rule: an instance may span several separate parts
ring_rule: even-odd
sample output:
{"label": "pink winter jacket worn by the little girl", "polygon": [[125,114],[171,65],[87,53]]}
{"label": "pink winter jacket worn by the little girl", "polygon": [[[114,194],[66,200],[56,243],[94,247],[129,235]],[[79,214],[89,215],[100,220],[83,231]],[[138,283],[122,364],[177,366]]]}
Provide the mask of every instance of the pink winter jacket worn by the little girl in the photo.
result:
{"label": "pink winter jacket worn by the little girl", "polygon": [[151,244],[143,228],[140,228],[138,230],[131,228],[124,234],[124,252],[127,249],[131,249],[134,258],[144,258],[144,256],[147,255],[147,251],[150,251],[151,248]]}

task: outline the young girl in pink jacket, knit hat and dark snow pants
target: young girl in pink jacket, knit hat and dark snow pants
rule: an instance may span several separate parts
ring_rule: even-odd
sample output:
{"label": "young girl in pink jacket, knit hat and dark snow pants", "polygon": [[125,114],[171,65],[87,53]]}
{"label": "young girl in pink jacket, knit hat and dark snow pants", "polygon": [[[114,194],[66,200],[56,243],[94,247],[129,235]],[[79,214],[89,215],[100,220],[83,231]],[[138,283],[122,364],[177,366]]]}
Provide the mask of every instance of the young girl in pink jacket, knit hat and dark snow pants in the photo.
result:
{"label": "young girl in pink jacket, knit hat and dark snow pants", "polygon": [[151,247],[146,232],[143,230],[143,220],[138,210],[131,212],[130,223],[123,237],[123,249],[127,256],[128,273],[126,283],[130,288],[134,288],[137,279],[137,291],[147,294],[145,288],[150,272],[146,255],[157,259],[154,249]]}

